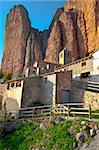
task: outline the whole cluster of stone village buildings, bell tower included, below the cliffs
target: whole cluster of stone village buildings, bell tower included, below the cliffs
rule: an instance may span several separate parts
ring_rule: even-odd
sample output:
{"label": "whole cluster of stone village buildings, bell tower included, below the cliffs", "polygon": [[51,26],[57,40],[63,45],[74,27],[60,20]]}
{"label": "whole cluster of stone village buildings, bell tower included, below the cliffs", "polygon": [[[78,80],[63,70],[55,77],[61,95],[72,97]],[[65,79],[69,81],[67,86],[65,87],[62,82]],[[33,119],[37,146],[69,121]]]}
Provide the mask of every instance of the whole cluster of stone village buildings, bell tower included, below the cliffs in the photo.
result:
{"label": "whole cluster of stone village buildings, bell tower included, below the cliffs", "polygon": [[68,64],[65,55],[69,55],[66,49],[59,54],[61,64],[37,61],[25,77],[7,81],[2,94],[7,111],[18,113],[36,102],[53,106],[83,102],[99,109],[99,50]]}

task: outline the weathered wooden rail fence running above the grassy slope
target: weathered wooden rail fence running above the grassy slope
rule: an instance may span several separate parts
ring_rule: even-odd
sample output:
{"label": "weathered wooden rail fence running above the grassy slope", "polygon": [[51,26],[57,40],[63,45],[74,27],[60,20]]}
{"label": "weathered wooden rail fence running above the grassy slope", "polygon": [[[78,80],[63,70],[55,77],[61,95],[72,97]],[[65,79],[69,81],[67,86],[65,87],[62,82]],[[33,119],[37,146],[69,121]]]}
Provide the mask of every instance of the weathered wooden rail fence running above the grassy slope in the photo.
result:
{"label": "weathered wooden rail fence running above the grassy slope", "polygon": [[[36,106],[21,108],[19,110],[20,117],[33,117],[34,115],[51,115],[54,114],[66,114],[69,116],[87,116],[91,118],[91,107],[84,108],[83,103],[68,103],[68,104],[56,104],[55,107],[52,105]],[[99,113],[97,113],[99,115]]]}

